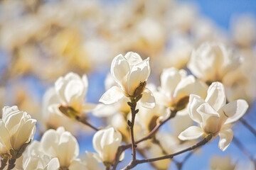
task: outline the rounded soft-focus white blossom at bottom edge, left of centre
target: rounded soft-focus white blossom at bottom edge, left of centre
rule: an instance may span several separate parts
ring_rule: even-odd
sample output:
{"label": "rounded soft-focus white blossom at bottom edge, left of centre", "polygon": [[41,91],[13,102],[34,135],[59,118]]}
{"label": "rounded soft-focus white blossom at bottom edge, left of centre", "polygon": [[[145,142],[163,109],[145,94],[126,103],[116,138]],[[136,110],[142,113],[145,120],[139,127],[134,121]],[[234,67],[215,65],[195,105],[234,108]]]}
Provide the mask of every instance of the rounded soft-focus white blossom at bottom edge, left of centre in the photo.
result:
{"label": "rounded soft-focus white blossom at bottom edge, left of centre", "polygon": [[62,168],[70,168],[78,164],[78,141],[63,127],[57,130],[47,130],[41,139],[41,147],[43,152],[49,156],[57,157]]}

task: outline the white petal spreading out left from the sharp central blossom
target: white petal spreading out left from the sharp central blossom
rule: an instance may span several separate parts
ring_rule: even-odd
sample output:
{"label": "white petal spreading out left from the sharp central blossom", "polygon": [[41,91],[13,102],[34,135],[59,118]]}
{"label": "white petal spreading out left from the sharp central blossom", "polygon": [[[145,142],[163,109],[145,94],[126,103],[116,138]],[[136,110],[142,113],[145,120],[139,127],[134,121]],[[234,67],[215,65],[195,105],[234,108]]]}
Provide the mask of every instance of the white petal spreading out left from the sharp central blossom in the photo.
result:
{"label": "white petal spreading out left from the sharp central blossom", "polygon": [[124,97],[124,92],[118,86],[112,86],[100,98],[100,102],[105,104],[112,104]]}

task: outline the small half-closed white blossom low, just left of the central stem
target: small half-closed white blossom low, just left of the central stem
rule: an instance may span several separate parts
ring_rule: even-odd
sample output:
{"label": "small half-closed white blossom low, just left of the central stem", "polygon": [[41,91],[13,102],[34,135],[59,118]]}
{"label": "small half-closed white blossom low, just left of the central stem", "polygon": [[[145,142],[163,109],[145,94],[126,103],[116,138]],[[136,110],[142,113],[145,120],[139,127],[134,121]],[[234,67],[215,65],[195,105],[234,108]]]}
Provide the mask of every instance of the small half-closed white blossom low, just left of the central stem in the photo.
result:
{"label": "small half-closed white blossom low, just left of the central stem", "polygon": [[121,133],[112,127],[97,131],[92,138],[92,145],[97,152],[97,159],[105,164],[112,164],[121,142]]}

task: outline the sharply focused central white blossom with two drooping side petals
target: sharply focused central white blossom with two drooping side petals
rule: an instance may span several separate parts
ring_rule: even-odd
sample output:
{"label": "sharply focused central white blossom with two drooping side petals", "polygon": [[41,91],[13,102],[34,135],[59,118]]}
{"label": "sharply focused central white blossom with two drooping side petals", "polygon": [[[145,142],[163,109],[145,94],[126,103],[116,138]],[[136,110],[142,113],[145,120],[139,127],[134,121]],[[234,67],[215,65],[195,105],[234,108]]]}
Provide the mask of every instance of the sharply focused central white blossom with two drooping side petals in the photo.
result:
{"label": "sharply focused central white blossom with two drooping side petals", "polygon": [[117,55],[111,64],[111,74],[118,86],[112,86],[100,98],[100,102],[112,104],[124,96],[138,97],[144,107],[154,108],[154,96],[145,88],[146,79],[150,74],[149,58],[142,58],[135,52],[128,52],[125,56]]}

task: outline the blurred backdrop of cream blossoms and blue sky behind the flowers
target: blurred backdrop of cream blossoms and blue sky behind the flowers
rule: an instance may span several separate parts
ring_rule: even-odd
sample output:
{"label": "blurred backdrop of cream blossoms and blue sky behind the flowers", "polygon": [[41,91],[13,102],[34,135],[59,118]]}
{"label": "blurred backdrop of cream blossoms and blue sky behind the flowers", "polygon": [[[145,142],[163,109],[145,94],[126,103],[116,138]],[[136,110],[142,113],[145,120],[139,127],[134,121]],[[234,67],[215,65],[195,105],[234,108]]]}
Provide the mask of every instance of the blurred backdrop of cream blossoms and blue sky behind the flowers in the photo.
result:
{"label": "blurred backdrop of cream blossoms and blue sky behind the flowers", "polygon": [[[46,91],[58,77],[68,72],[87,74],[87,101],[98,103],[116,55],[134,51],[144,59],[150,57],[149,81],[159,86],[164,68],[186,69],[193,49],[202,42],[217,41],[247,61],[242,66],[244,77],[227,86],[238,92],[230,98],[245,98],[250,103],[245,120],[256,128],[255,18],[255,0],[0,1],[0,106],[17,105],[36,118],[39,140],[44,130],[56,128],[46,113]],[[105,125],[102,118],[91,114],[89,118],[95,125]],[[81,155],[85,150],[94,152],[93,132],[81,130],[80,125],[65,128],[78,138]],[[166,125],[161,130],[170,128]],[[252,168],[248,155],[255,158],[256,137],[241,123],[233,130],[243,151],[232,142],[221,152],[218,140],[213,140],[191,155],[183,169],[210,169],[213,156]],[[122,164],[128,164],[130,154],[127,151]],[[135,169],[152,167],[142,164]],[[176,165],[171,163],[169,169]]]}

